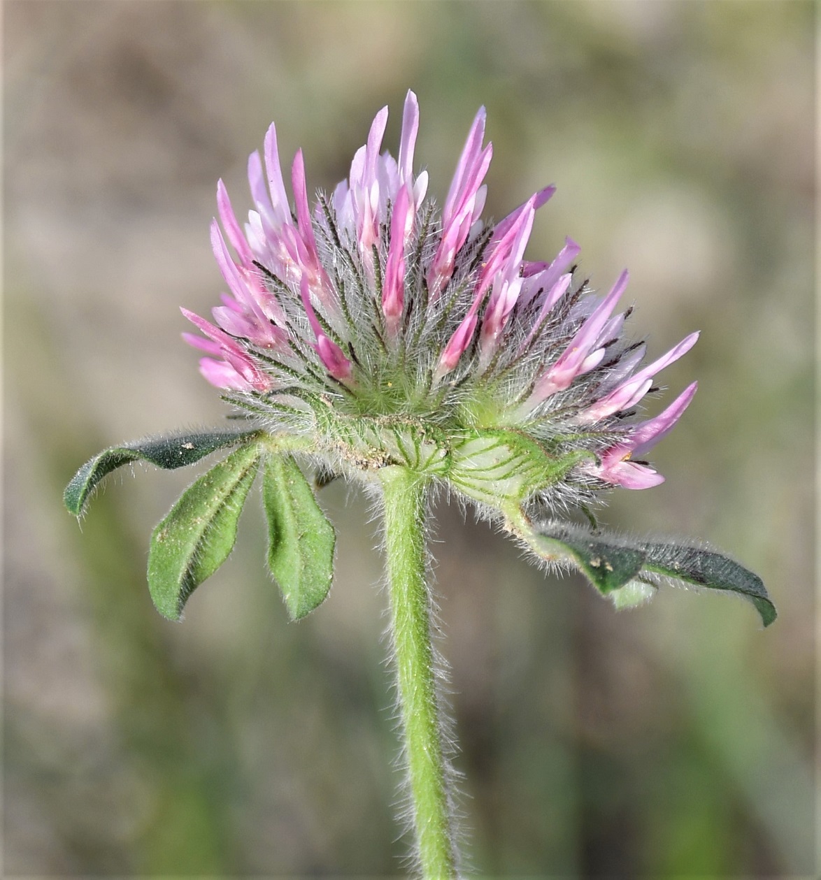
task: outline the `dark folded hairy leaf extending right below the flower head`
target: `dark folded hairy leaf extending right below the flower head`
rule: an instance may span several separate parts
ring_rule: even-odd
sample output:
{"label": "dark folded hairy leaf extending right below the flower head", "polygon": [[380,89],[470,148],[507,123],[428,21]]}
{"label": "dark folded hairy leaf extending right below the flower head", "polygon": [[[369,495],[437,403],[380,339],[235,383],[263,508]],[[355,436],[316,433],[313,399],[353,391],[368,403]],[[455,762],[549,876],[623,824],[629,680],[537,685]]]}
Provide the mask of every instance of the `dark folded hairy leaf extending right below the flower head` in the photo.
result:
{"label": "dark folded hairy leaf extending right below the flower head", "polygon": [[[597,590],[610,594],[617,606],[649,598],[650,585],[658,576],[665,576],[738,593],[755,605],[765,627],[776,618],[761,578],[712,550],[625,539],[564,523],[535,524],[523,530],[521,537],[544,559],[573,562]],[[623,598],[617,595],[621,589],[627,590]]]}

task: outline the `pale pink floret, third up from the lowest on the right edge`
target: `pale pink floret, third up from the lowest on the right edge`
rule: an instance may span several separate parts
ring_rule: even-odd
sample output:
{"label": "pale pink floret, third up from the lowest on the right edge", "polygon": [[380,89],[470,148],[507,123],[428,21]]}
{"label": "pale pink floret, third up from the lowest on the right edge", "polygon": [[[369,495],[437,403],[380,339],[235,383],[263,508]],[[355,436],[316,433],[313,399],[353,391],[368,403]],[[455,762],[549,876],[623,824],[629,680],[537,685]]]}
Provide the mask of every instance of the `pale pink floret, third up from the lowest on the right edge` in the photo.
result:
{"label": "pale pink floret, third up from the lowest on the right edge", "polygon": [[558,361],[545,370],[542,377],[536,381],[536,387],[526,406],[535,407],[543,400],[547,400],[551,394],[564,391],[573,384],[576,378],[594,370],[602,363],[605,351],[604,344],[615,338],[624,321],[623,316],[610,319],[610,314],[616,308],[618,298],[624,293],[627,279],[628,274],[625,269],[618,276],[618,281],[613,285],[610,293],[604,297],[594,312],[581,325],[573,337],[573,341],[559,356]]}

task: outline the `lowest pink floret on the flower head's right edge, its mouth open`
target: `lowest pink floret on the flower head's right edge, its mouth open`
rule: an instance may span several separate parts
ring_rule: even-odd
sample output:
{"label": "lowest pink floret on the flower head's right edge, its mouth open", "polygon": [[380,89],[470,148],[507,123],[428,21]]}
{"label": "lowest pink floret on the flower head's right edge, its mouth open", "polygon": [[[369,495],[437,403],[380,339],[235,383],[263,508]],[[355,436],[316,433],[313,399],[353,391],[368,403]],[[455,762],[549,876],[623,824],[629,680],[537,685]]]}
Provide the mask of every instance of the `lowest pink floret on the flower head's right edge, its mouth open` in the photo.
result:
{"label": "lowest pink floret on the flower head's right edge, its mouth open", "polygon": [[587,465],[584,470],[604,482],[626,489],[647,489],[664,482],[661,473],[657,473],[649,465],[631,459],[644,455],[673,429],[684,410],[690,406],[698,386],[698,382],[688,385],[661,414],[647,422],[641,422],[621,443],[604,451],[600,464]]}

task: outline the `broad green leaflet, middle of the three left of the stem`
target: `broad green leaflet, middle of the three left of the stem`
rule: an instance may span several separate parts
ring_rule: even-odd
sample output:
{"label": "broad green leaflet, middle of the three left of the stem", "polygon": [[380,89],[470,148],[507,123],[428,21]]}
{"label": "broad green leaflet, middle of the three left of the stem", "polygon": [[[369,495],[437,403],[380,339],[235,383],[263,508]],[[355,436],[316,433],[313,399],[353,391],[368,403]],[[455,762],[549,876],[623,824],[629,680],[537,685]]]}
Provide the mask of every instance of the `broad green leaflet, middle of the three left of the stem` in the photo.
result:
{"label": "broad green leaflet, middle of the three left of the stem", "polygon": [[186,489],[152,534],[148,586],[154,605],[179,620],[193,590],[226,561],[262,454],[240,446]]}

